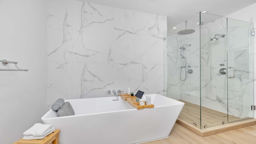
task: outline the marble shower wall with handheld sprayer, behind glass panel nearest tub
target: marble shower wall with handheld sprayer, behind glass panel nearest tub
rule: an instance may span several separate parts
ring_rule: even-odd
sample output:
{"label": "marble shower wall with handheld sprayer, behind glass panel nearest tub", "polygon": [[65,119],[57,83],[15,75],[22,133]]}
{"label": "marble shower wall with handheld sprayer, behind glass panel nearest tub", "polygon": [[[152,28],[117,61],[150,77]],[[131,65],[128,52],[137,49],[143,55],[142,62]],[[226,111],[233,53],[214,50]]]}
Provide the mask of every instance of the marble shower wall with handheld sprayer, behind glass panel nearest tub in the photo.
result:
{"label": "marble shower wall with handheld sprayer, behind glass panel nearest tub", "polygon": [[[191,24],[193,22],[189,21],[189,23]],[[194,23],[194,25],[196,25],[196,23]],[[180,24],[178,26],[180,26]],[[188,102],[192,102],[194,104],[200,104],[200,30],[199,28],[193,29],[195,29],[196,31],[189,35],[176,34],[179,30],[176,30],[174,34],[168,34],[167,96],[170,98],[174,98],[176,100],[185,100]],[[185,50],[180,49],[180,47],[182,47],[183,44],[186,44],[184,45]],[[183,60],[180,54],[182,54],[186,58],[186,70],[185,68],[182,68],[181,70]],[[188,74],[186,72],[189,69],[193,70],[192,74]],[[184,80],[185,74],[186,80]]]}

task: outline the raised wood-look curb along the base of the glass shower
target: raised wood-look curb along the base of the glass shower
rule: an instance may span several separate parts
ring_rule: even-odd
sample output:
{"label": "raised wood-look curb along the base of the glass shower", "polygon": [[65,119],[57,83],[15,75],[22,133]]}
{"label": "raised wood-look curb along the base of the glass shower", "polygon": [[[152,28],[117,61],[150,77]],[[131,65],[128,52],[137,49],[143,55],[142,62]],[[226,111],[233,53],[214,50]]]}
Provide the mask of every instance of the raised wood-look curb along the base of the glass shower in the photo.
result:
{"label": "raised wood-look curb along the base of the glass shower", "polygon": [[210,128],[204,128],[204,129],[197,128],[196,126],[194,126],[180,118],[178,118],[176,122],[178,124],[184,126],[185,128],[187,128],[188,130],[194,132],[198,136],[201,136],[202,138],[204,138],[206,136],[220,134],[222,132],[228,132],[228,131],[237,130],[240,128],[245,128],[248,126],[256,125],[256,119],[254,119],[254,118],[250,118],[247,120],[240,120],[240,121],[236,121],[236,122],[230,122],[230,123],[223,124],[220,126],[214,126],[214,127],[210,127]]}

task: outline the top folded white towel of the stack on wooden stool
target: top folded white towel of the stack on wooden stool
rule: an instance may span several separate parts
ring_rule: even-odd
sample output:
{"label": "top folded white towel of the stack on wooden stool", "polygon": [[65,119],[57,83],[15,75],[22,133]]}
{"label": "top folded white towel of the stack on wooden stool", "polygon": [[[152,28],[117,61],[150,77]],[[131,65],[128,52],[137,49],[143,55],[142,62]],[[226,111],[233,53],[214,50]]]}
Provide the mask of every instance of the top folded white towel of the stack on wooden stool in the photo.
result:
{"label": "top folded white towel of the stack on wooden stool", "polygon": [[34,124],[31,128],[26,130],[23,134],[26,136],[32,135],[32,136],[44,136],[49,131],[52,130],[52,124]]}

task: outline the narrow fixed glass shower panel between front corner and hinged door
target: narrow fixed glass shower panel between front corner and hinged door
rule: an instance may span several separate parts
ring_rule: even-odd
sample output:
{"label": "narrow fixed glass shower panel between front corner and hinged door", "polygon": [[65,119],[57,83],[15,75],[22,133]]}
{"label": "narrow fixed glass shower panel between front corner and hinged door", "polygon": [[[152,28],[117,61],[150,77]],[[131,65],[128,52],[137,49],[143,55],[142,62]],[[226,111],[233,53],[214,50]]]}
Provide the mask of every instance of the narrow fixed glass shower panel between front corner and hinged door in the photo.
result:
{"label": "narrow fixed glass shower panel between front corner and hinged door", "polygon": [[201,13],[200,82],[201,128],[227,123],[227,78],[220,74],[227,66],[227,18]]}

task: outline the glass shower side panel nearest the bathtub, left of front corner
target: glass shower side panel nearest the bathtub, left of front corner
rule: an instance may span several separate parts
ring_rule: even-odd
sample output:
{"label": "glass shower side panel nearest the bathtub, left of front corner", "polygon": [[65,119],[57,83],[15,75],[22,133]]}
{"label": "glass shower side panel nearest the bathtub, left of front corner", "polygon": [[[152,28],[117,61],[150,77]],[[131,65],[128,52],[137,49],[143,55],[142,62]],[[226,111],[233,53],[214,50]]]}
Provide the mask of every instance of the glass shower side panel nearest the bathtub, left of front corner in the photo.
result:
{"label": "glass shower side panel nearest the bathtub, left of front corner", "polygon": [[[180,119],[200,128],[200,13],[167,31],[167,97],[185,103]],[[178,34],[180,32],[180,34]]]}

